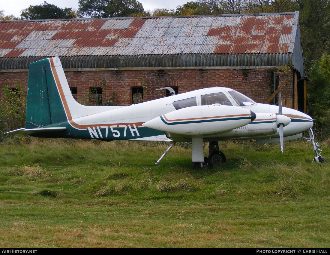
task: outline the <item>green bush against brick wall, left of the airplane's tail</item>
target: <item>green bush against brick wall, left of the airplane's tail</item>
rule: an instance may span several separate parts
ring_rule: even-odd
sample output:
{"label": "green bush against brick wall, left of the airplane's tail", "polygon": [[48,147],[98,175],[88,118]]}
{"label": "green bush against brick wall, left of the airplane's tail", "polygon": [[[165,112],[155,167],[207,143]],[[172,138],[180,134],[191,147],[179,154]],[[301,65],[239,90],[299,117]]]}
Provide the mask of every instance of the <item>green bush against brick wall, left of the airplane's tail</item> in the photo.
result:
{"label": "green bush against brick wall, left of the airplane's tail", "polygon": [[26,91],[22,84],[15,89],[3,86],[4,97],[0,99],[0,135],[25,127]]}

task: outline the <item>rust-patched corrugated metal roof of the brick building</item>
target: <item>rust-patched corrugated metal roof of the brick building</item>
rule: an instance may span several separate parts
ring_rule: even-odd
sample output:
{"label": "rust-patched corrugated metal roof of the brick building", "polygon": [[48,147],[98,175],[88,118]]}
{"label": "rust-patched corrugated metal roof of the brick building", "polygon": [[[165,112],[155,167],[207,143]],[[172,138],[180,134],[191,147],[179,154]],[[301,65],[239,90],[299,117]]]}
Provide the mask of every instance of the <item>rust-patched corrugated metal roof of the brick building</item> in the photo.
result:
{"label": "rust-patched corrugated metal roof of the brick building", "polygon": [[[0,58],[49,57],[54,54],[63,57],[118,54],[211,54],[213,57],[215,54],[289,54],[293,50],[301,51],[301,43],[297,42],[300,40],[300,34],[297,35],[300,31],[298,26],[298,12],[1,21]],[[302,51],[297,54],[299,56],[294,59],[303,62]]]}

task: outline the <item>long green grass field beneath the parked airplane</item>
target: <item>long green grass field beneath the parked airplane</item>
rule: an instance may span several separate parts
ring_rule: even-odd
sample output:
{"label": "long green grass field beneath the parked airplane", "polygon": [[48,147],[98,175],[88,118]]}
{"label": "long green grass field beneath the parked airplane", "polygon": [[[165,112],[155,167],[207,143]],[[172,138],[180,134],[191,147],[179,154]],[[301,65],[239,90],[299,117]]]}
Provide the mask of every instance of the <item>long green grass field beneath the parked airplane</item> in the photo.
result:
{"label": "long green grass field beneath the parked airplane", "polygon": [[155,165],[168,145],[7,140],[0,245],[330,247],[330,164],[312,163],[311,143],[285,142],[282,154],[223,142],[227,162],[211,170],[191,170],[182,144]]}

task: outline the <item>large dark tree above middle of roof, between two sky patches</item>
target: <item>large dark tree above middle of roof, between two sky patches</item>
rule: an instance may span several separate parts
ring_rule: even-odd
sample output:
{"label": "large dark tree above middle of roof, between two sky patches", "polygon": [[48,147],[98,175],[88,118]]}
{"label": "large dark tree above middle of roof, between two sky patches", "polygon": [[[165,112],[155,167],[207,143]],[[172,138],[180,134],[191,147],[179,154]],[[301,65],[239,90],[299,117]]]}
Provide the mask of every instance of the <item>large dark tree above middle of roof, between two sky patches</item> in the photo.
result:
{"label": "large dark tree above middle of roof, between two sky patches", "polygon": [[144,9],[136,0],[79,0],[78,13],[91,18],[114,18],[139,16]]}

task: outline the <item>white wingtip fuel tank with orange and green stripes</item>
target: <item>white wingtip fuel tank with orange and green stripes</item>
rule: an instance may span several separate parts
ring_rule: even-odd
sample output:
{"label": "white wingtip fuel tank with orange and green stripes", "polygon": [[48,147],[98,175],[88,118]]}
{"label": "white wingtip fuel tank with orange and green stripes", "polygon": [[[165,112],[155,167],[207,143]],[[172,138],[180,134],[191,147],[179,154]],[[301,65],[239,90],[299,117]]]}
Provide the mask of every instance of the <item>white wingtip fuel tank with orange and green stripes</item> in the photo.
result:
{"label": "white wingtip fuel tank with orange and green stripes", "polygon": [[215,104],[171,111],[142,125],[173,134],[198,136],[228,132],[254,119],[254,112],[246,108]]}

